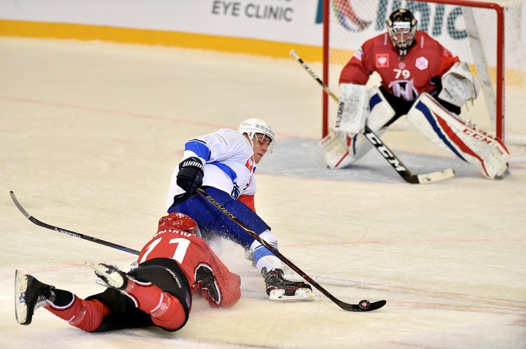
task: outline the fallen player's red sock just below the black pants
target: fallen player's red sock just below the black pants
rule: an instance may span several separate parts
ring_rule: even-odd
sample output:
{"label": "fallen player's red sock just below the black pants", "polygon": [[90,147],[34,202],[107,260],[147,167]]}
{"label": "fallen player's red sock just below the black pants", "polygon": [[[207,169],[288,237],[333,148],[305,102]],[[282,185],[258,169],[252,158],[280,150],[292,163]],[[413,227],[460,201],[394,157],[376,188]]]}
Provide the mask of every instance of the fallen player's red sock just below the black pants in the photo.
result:
{"label": "fallen player's red sock just below the black pants", "polygon": [[151,320],[166,330],[177,330],[186,321],[183,304],[173,295],[164,292],[151,282],[128,280],[124,292],[140,310],[151,315]]}

